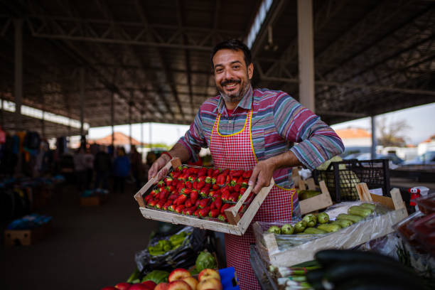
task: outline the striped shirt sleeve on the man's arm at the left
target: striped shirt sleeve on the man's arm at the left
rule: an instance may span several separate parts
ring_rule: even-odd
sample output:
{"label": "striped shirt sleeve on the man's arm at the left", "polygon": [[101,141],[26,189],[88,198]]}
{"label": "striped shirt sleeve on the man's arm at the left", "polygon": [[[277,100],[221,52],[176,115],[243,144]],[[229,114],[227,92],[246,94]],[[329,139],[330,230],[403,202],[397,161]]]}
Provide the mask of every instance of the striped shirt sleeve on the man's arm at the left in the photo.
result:
{"label": "striped shirt sleeve on the man's arm at the left", "polygon": [[195,115],[195,119],[193,123],[190,124],[190,128],[186,131],[186,134],[182,136],[178,140],[178,144],[183,145],[188,151],[190,155],[190,159],[193,161],[198,161],[198,154],[201,147],[207,147],[207,141],[204,138],[202,131],[202,122],[201,122],[201,110]]}

